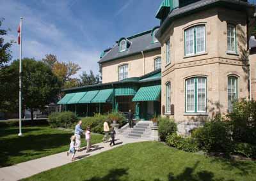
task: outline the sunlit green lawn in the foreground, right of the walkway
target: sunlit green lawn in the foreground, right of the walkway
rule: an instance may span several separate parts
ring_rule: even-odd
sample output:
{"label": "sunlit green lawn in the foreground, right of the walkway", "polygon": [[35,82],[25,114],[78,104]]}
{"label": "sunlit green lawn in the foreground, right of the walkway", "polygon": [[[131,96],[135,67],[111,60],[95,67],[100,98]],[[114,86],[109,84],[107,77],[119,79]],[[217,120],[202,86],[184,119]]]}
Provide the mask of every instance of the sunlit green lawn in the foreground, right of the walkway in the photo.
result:
{"label": "sunlit green lawn in the foreground, right of the walkway", "polygon": [[124,145],[24,180],[253,181],[256,163],[191,154],[148,141]]}

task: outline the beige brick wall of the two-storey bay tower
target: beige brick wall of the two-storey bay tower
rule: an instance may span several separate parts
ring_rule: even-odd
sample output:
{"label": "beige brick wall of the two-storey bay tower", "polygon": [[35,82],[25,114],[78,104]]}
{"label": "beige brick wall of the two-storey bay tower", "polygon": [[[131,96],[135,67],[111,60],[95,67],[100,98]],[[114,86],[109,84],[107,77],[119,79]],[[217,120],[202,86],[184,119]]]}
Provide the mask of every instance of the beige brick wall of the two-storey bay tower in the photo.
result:
{"label": "beige brick wall of the two-storey bay tower", "polygon": [[[236,55],[227,54],[227,23],[236,25]],[[199,24],[205,24],[206,51],[203,54],[186,57],[184,30]],[[171,42],[171,63],[166,65],[165,42],[168,38]],[[172,87],[171,104],[174,105],[174,115],[169,116],[174,117],[176,122],[187,124],[207,120],[216,112],[227,113],[228,75],[235,75],[238,78],[238,98],[248,98],[246,40],[246,15],[239,11],[212,8],[174,20],[160,40],[162,44],[162,107],[166,105],[165,83],[170,81]],[[205,115],[185,113],[185,80],[193,76],[207,78],[207,113]],[[182,129],[181,134],[188,134],[184,126]]]}

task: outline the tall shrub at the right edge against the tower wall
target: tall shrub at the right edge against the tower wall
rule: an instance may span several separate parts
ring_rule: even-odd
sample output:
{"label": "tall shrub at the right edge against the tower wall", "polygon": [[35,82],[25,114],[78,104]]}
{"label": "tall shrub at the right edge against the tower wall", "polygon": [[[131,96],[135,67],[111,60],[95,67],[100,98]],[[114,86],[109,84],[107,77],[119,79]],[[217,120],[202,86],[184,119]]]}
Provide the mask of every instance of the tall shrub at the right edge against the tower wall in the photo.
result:
{"label": "tall shrub at the right edge against the tower wall", "polygon": [[236,143],[256,145],[256,102],[242,101],[233,105],[232,112],[227,115],[232,138]]}

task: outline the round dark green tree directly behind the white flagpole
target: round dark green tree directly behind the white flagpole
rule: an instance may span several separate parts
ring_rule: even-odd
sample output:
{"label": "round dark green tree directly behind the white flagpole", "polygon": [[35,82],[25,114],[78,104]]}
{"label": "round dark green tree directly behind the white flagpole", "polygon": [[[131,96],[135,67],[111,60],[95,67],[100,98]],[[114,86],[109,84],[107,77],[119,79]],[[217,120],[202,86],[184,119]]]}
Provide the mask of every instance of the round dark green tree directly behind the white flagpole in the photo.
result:
{"label": "round dark green tree directly behind the white flagpole", "polygon": [[[19,80],[19,61],[13,61],[9,69],[15,72],[15,85],[18,87],[16,90],[19,90],[17,82]],[[61,83],[52,73],[51,68],[42,61],[24,58],[22,59],[22,70],[23,107],[30,110],[31,120],[33,120],[34,110],[44,110],[46,105],[56,101]]]}

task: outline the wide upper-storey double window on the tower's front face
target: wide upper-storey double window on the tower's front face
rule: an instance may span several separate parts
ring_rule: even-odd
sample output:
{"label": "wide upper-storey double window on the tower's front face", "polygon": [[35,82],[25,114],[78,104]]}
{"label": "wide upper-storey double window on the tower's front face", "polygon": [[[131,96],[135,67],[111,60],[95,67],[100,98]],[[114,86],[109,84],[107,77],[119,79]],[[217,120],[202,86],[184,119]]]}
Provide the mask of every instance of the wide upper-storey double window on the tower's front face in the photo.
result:
{"label": "wide upper-storey double window on the tower's front face", "polygon": [[205,52],[205,25],[196,25],[185,31],[185,55]]}

